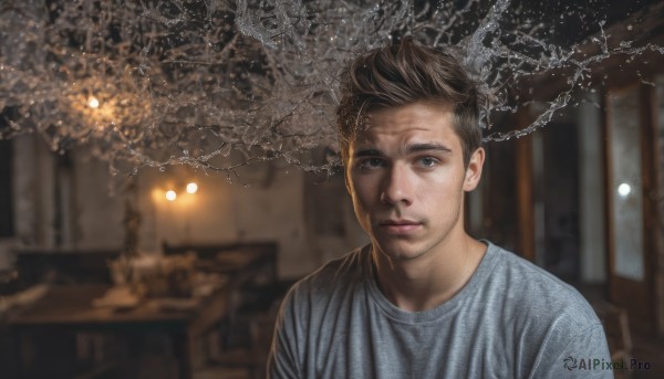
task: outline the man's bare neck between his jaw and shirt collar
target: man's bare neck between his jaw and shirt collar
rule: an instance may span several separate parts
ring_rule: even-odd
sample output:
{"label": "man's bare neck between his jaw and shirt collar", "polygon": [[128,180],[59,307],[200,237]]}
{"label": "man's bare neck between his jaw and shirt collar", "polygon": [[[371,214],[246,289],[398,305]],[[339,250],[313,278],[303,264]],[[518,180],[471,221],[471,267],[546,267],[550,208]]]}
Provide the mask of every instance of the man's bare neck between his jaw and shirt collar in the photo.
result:
{"label": "man's bare neck between his jaw and shirt collar", "polygon": [[435,308],[456,295],[475,273],[487,246],[464,233],[448,246],[436,246],[412,260],[393,260],[374,245],[378,287],[397,307],[421,312]]}

